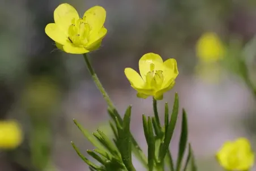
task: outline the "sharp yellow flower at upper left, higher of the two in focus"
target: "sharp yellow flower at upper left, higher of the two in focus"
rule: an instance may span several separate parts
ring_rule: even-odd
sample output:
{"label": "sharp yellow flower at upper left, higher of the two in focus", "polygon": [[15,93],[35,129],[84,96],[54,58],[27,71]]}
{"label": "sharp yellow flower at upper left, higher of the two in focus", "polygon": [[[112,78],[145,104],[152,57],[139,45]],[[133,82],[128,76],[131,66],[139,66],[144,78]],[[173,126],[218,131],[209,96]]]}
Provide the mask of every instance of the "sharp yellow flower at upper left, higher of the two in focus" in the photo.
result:
{"label": "sharp yellow flower at upper left, higher of the two in focus", "polygon": [[67,53],[82,54],[99,48],[106,35],[106,11],[94,6],[79,18],[74,7],[62,3],[54,10],[54,22],[46,25],[45,33],[56,42],[57,48]]}

